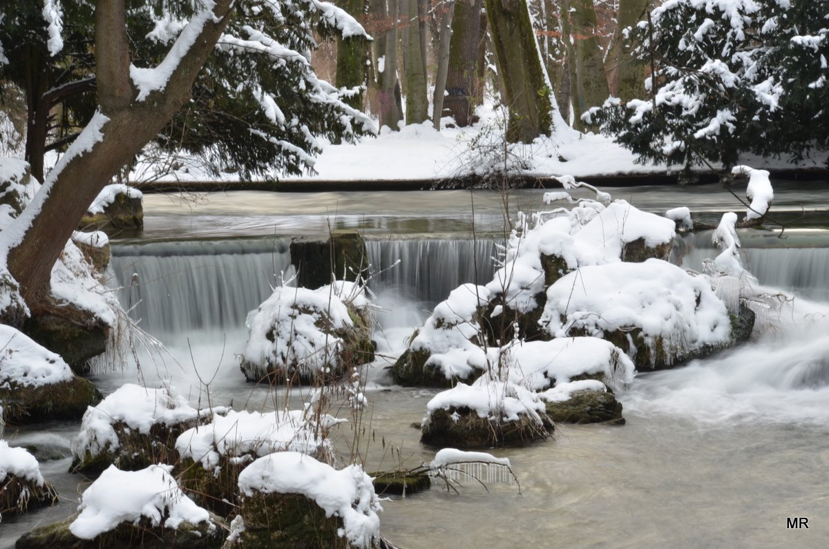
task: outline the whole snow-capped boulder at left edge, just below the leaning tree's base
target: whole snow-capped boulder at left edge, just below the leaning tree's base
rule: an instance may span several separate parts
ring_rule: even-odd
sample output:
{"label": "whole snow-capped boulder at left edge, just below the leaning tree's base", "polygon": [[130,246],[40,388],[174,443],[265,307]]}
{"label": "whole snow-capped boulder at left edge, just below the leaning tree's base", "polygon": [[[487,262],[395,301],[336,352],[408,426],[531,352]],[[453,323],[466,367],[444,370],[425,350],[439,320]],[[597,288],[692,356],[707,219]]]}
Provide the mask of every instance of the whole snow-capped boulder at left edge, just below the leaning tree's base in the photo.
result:
{"label": "whole snow-capped boulder at left edge, just below the leaning tree's base", "polygon": [[9,423],[80,418],[101,394],[56,353],[0,324],[0,402]]}

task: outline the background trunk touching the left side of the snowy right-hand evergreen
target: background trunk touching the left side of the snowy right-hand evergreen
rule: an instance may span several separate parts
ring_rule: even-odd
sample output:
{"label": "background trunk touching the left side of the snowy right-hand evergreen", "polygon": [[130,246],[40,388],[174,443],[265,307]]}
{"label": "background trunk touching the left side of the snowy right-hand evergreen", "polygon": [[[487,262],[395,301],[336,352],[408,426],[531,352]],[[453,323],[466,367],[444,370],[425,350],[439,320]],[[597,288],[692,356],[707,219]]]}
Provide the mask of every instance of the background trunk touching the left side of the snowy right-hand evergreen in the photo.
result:
{"label": "background trunk touching the left side of the snowy right-hand evergreen", "polygon": [[615,95],[625,103],[647,96],[645,63],[634,58],[633,50],[638,44],[633,38],[625,36],[625,29],[636,27],[645,18],[649,3],[649,0],[619,0],[616,41],[613,42],[609,58],[616,70]]}

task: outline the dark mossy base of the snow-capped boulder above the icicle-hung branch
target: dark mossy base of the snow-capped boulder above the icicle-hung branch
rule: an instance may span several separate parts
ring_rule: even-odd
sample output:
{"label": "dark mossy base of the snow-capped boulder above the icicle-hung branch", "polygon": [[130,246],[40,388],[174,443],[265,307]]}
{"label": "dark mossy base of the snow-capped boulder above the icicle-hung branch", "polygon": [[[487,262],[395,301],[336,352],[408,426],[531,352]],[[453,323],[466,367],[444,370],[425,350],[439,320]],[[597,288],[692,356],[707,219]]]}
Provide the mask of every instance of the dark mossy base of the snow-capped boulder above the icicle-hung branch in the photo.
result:
{"label": "dark mossy base of the snow-capped boulder above the icicle-hung branch", "polygon": [[429,415],[421,430],[420,442],[458,449],[523,446],[544,440],[553,432],[553,422],[543,414],[541,419],[541,425],[526,415],[507,421],[480,417],[469,408],[450,407]]}

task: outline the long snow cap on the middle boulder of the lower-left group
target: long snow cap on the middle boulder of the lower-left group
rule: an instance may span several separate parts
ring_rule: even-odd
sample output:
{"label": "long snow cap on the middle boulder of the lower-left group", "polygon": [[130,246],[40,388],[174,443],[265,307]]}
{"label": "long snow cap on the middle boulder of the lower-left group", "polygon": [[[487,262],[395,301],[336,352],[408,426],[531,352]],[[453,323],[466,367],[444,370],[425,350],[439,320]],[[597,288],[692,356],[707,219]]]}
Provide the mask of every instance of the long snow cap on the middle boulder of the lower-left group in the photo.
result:
{"label": "long snow cap on the middle boulder of the lower-left group", "polygon": [[[322,415],[320,426],[337,425],[331,415]],[[322,438],[315,421],[304,411],[229,411],[214,415],[208,425],[186,430],[178,437],[176,449],[182,458],[199,461],[206,470],[215,469],[220,457],[240,458],[245,454],[263,456],[280,451],[317,454],[331,450],[331,441]]]}

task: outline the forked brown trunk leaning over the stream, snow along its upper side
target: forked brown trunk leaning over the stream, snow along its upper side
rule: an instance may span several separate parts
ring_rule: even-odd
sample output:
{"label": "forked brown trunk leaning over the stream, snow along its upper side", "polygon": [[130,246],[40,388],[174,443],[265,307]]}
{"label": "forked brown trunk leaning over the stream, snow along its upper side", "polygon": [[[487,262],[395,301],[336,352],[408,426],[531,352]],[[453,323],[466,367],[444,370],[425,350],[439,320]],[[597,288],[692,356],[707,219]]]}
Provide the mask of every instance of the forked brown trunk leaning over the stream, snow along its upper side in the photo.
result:
{"label": "forked brown trunk leaning over the stream, snow along its upper side", "polygon": [[[233,3],[216,0],[214,17],[204,23],[164,90],[138,101],[129,77],[124,0],[97,2],[95,70],[100,114],[49,172],[32,204],[6,230],[12,239],[8,270],[33,312],[45,303],[52,267],[92,201],[190,100],[192,83],[225,29]],[[102,117],[104,124],[96,125]]]}

